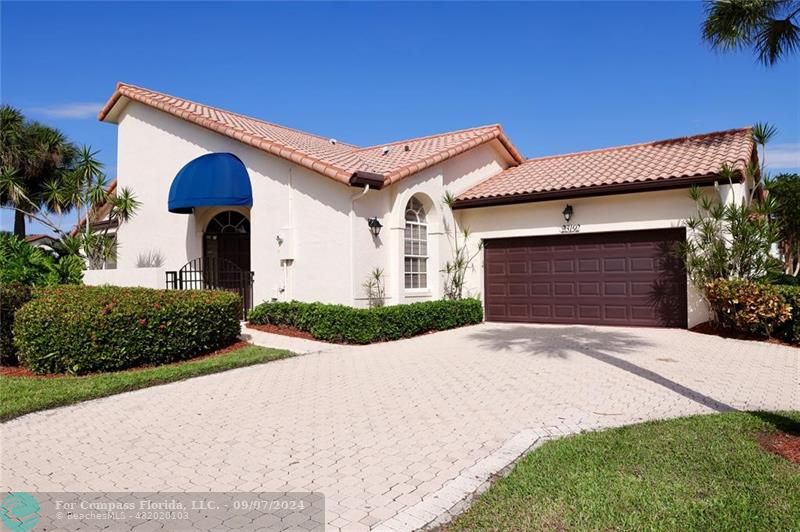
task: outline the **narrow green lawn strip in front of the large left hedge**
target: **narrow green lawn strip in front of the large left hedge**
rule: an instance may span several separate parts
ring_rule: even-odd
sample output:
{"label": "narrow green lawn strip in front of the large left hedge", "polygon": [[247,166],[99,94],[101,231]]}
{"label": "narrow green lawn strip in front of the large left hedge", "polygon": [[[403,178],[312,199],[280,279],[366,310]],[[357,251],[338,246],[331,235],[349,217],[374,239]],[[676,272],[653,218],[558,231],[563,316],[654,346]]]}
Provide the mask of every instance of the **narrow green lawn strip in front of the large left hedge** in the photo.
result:
{"label": "narrow green lawn strip in front of the large left hedge", "polygon": [[207,358],[85,377],[0,377],[0,421],[156,384],[218,373],[293,356],[289,351],[247,346]]}

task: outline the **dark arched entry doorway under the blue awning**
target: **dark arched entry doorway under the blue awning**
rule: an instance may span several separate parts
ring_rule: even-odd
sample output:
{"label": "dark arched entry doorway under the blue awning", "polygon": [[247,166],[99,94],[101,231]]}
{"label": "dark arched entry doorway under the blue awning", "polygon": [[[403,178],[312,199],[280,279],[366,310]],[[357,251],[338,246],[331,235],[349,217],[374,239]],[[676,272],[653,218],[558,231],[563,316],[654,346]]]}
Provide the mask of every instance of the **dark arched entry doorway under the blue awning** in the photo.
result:
{"label": "dark arched entry doorway under the blue awning", "polygon": [[203,232],[203,259],[220,267],[229,262],[250,271],[250,220],[240,212],[223,211]]}

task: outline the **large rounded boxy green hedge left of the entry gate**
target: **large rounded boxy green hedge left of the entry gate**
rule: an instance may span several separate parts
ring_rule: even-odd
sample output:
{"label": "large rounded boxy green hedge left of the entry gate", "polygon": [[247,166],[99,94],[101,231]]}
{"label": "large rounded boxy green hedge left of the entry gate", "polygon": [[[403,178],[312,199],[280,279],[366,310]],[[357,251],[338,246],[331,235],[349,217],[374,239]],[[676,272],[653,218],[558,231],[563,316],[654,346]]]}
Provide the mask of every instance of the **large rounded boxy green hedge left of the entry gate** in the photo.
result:
{"label": "large rounded boxy green hedge left of the entry gate", "polygon": [[36,373],[166,364],[236,340],[240,308],[239,296],[222,291],[43,288],[17,312],[14,342]]}

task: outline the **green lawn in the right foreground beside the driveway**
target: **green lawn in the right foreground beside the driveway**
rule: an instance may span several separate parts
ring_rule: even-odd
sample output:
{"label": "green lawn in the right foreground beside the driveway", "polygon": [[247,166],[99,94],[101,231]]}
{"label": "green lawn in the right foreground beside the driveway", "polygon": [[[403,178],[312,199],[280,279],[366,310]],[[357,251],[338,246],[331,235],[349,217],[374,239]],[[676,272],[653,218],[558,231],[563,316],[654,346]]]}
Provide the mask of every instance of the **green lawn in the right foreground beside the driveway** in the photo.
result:
{"label": "green lawn in the right foreground beside the driveway", "polygon": [[652,422],[545,443],[450,530],[800,530],[800,465],[760,432],[800,412]]}

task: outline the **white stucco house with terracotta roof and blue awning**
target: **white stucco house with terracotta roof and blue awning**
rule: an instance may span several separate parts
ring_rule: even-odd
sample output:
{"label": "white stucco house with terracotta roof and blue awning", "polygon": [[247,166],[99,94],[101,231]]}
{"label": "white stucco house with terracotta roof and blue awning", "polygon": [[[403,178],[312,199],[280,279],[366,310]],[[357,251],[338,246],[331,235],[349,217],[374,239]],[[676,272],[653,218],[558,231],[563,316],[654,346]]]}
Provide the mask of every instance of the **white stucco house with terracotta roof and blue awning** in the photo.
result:
{"label": "white stucco house with terracotta roof and blue awning", "polygon": [[688,188],[736,201],[752,183],[718,172],[756,157],[749,128],[535,159],[499,125],[358,147],[124,83],[99,118],[142,205],[117,268],[87,282],[364,306],[381,268],[387,303],[411,303],[442,297],[453,231],[469,228],[466,291],[500,321],[705,321],[674,253]]}

